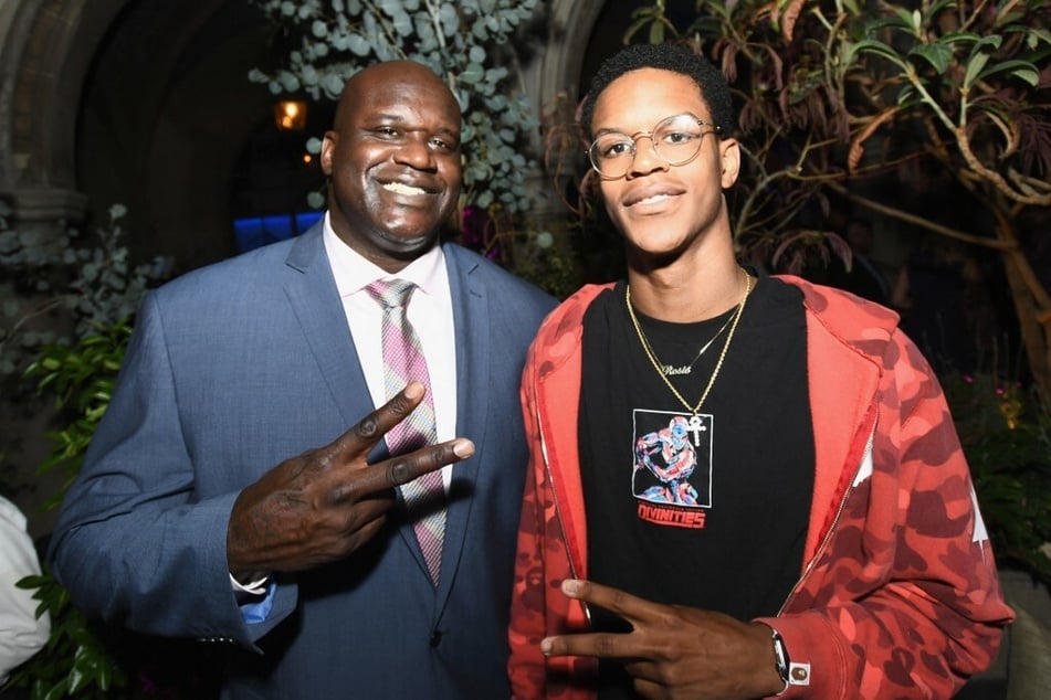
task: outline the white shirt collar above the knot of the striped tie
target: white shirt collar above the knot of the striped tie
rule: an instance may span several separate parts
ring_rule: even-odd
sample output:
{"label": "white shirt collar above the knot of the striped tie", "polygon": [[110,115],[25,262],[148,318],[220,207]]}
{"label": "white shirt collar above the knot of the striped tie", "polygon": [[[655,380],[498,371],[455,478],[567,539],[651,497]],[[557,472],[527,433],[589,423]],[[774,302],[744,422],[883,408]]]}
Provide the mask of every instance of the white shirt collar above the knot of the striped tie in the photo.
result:
{"label": "white shirt collar above the knot of the striped tie", "polygon": [[430,251],[406,265],[403,269],[391,274],[344,243],[333,230],[328,216],[328,212],[325,212],[322,235],[340,298],[362,290],[377,279],[396,278],[407,279],[416,284],[428,296],[438,294],[439,285],[442,284],[441,271],[445,263],[441,245],[432,246]]}

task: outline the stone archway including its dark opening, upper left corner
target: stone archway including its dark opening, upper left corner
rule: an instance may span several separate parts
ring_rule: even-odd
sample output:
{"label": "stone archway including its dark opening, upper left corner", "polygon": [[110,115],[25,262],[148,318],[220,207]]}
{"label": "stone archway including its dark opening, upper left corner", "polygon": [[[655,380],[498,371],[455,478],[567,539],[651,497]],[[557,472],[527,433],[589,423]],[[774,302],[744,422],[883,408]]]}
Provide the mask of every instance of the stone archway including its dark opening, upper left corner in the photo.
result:
{"label": "stone archway including its dark opening, upper left corner", "polygon": [[[244,78],[265,45],[262,23],[229,18],[245,8],[246,0],[2,3],[0,197],[20,229],[57,235],[90,218],[90,206],[104,222],[119,202],[130,212],[133,248],[144,254],[171,244],[185,266],[228,255],[231,246],[207,225],[222,204],[209,206],[206,190],[225,198],[217,170],[229,168],[238,139],[269,107],[265,91]],[[216,83],[230,71],[243,88],[222,104]],[[200,95],[220,108],[198,104],[189,114],[193,105],[178,102]],[[220,113],[232,116],[217,125]],[[190,213],[178,214],[180,206]],[[198,232],[203,246],[193,243]]]}

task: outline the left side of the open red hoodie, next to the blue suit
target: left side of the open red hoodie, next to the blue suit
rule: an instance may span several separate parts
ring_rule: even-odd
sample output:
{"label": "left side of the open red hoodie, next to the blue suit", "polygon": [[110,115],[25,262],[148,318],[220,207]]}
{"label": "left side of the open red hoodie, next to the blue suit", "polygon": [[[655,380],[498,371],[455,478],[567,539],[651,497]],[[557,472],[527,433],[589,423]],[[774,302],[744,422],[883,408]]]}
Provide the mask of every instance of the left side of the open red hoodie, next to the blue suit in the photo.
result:
{"label": "left side of the open red hoodie, next to the blue suit", "polygon": [[582,529],[577,449],[580,339],[585,310],[607,287],[586,286],[551,312],[529,348],[523,370],[521,400],[529,469],[508,629],[508,672],[513,694],[521,700],[593,696],[586,683],[577,682],[593,675],[593,659],[548,659],[539,646],[545,636],[588,625],[585,607],[564,596],[559,584],[586,575],[587,533]]}

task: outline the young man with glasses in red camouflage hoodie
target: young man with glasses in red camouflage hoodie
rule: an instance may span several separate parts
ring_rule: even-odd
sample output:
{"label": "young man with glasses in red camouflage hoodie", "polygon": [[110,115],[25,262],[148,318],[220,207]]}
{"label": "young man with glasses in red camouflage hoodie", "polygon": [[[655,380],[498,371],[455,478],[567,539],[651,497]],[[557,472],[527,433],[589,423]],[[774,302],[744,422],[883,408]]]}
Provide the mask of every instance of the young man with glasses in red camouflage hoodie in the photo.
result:
{"label": "young man with glasses in red camouflage hoodie", "polygon": [[628,274],[526,363],[515,697],[950,697],[1012,613],[929,367],[892,311],[737,263],[703,57],[623,50],[582,126]]}

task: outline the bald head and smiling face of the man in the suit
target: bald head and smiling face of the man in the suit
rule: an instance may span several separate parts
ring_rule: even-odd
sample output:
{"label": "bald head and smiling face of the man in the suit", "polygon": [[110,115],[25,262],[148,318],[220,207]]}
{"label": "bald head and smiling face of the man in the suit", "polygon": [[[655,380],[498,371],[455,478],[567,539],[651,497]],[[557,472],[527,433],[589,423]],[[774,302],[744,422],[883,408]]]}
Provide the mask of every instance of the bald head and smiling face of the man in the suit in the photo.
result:
{"label": "bald head and smiling face of the man in the suit", "polygon": [[336,234],[388,272],[430,250],[460,197],[460,124],[452,93],[422,65],[350,78],[320,153]]}

